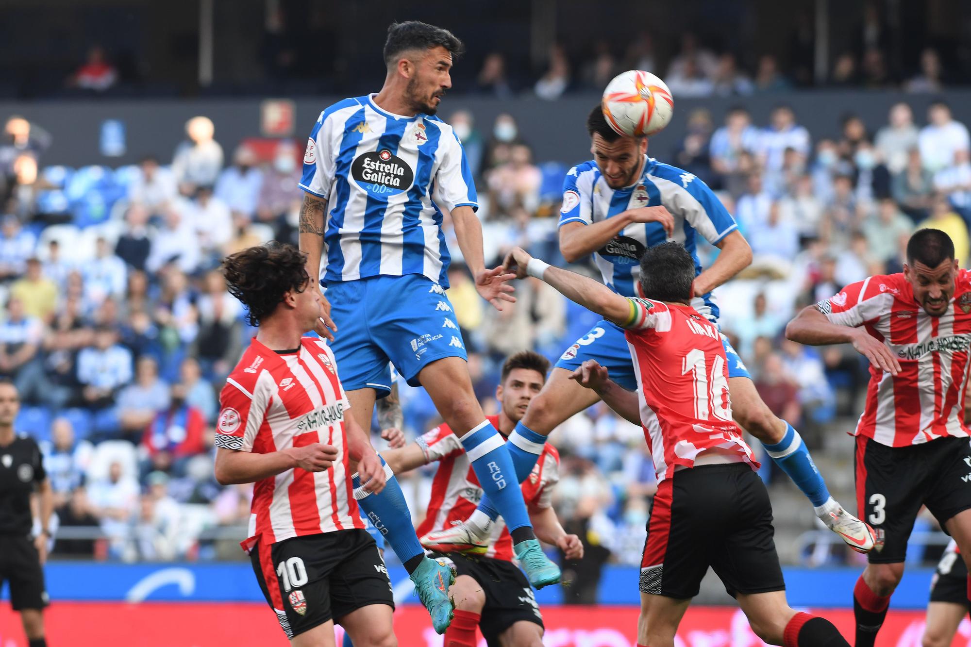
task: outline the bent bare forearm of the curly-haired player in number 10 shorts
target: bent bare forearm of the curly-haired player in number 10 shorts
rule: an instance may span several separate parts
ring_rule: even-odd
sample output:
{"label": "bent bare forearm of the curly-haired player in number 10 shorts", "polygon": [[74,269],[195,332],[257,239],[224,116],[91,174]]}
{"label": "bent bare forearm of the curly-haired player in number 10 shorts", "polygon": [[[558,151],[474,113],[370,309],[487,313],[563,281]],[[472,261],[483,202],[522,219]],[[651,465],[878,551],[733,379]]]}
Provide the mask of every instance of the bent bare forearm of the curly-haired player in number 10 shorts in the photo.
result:
{"label": "bent bare forearm of the curly-haired player in number 10 shorts", "polygon": [[321,443],[291,447],[269,454],[220,447],[216,451],[216,480],[219,485],[255,483],[296,467],[308,472],[322,472],[334,460],[337,460],[337,448]]}

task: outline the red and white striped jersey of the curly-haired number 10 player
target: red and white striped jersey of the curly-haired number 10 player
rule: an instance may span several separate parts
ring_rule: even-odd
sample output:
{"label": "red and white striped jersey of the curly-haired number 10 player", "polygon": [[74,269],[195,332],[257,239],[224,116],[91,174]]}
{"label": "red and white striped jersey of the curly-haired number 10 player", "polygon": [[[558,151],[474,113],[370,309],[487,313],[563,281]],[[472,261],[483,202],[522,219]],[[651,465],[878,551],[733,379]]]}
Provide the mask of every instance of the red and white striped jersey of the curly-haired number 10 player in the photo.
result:
{"label": "red and white striped jersey of the curly-haired number 10 player", "polygon": [[330,469],[296,467],[253,487],[249,538],[272,544],[290,537],[364,528],[352,494],[345,412],[347,395],[326,344],[304,337],[291,353],[255,338],[219,394],[216,446],[270,454],[312,443],[333,445]]}

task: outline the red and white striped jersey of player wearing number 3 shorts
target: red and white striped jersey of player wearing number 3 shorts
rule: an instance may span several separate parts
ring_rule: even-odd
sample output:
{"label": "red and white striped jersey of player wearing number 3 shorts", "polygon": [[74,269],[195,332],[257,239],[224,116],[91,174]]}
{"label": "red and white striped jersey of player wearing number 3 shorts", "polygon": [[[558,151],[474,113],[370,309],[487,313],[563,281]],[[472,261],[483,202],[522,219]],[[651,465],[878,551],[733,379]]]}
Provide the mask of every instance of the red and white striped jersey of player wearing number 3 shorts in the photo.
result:
{"label": "red and white striped jersey of player wearing number 3 shorts", "polygon": [[831,323],[863,328],[900,362],[896,377],[870,366],[854,435],[887,447],[968,435],[964,391],[971,347],[971,272],[958,270],[947,312],[931,317],[902,273],[871,276],[816,304]]}

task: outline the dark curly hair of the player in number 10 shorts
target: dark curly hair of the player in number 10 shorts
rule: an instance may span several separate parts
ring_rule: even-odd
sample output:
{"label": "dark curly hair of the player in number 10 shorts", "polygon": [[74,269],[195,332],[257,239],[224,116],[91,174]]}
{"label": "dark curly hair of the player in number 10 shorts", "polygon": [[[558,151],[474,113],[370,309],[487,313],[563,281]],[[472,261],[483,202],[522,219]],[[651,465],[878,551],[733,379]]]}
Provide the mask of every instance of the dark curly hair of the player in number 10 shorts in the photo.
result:
{"label": "dark curly hair of the player in number 10 shorts", "polygon": [[302,292],[310,284],[304,266],[307,255],[286,243],[271,242],[227,256],[222,275],[229,293],[243,302],[250,325],[273,314],[288,291]]}

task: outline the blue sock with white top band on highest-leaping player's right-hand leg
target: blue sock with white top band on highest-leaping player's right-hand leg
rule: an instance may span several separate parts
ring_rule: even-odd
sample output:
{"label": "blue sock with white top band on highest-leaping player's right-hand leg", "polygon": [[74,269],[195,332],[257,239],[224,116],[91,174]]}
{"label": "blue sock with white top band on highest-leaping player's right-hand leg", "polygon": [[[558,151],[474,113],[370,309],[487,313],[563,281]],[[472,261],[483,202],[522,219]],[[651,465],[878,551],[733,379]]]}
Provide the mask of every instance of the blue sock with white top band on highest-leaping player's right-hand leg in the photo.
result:
{"label": "blue sock with white top band on highest-leaping player's right-hand leg", "polygon": [[[502,436],[488,421],[483,421],[466,433],[461,441],[483,493],[495,502],[509,531],[512,533],[517,528],[532,528],[526,504],[522,502],[516,466],[506,449],[507,444],[510,447],[513,445],[503,442]],[[533,462],[536,462],[536,457],[533,457]]]}

